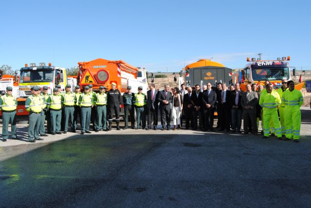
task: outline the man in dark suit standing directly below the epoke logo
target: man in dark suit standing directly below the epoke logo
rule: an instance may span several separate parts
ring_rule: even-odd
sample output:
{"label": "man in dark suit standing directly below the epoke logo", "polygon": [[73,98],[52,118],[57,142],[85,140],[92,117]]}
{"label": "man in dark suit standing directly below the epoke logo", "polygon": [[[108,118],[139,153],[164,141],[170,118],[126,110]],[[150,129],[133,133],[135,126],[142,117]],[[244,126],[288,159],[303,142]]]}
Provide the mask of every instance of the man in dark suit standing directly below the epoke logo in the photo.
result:
{"label": "man in dark suit standing directly below the epoke logo", "polygon": [[208,82],[207,90],[203,92],[203,115],[205,122],[203,131],[207,131],[208,129],[210,129],[211,131],[215,131],[213,128],[213,124],[214,124],[214,111],[217,95],[216,92],[212,90],[211,87],[212,84]]}

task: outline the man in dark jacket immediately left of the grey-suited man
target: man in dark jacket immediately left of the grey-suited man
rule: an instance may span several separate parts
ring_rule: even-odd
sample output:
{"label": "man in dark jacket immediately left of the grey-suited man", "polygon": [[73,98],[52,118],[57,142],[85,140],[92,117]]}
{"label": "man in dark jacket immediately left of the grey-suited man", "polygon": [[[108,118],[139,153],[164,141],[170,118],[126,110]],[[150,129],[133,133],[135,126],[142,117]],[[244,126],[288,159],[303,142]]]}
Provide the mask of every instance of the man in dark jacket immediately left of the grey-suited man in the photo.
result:
{"label": "man in dark jacket immediately left of the grey-suited man", "polygon": [[240,84],[236,83],[234,85],[234,90],[230,93],[230,109],[231,109],[231,128],[232,132],[241,132],[242,125],[242,90],[240,89]]}

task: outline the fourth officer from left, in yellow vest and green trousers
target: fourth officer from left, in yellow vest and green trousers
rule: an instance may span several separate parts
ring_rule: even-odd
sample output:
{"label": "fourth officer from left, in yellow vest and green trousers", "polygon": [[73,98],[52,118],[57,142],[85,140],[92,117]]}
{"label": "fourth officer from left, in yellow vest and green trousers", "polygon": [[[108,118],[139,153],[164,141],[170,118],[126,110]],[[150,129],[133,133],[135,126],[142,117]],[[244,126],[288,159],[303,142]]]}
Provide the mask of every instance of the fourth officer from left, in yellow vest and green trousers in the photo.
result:
{"label": "fourth officer from left, in yellow vest and green trousers", "polygon": [[60,132],[60,122],[62,120],[62,104],[64,102],[64,97],[59,95],[58,88],[53,89],[53,94],[48,98],[47,103],[50,103],[50,114],[51,114],[51,124],[52,124],[52,135],[62,134]]}

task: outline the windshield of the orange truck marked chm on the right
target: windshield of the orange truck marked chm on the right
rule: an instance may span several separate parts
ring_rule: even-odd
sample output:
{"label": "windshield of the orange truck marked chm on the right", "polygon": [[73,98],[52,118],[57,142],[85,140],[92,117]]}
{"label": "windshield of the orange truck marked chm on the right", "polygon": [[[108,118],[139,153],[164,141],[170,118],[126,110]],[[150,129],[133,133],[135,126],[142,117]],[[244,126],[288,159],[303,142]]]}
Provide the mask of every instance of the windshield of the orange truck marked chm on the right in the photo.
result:
{"label": "windshield of the orange truck marked chm on the right", "polygon": [[289,79],[289,68],[253,68],[253,80],[282,80]]}

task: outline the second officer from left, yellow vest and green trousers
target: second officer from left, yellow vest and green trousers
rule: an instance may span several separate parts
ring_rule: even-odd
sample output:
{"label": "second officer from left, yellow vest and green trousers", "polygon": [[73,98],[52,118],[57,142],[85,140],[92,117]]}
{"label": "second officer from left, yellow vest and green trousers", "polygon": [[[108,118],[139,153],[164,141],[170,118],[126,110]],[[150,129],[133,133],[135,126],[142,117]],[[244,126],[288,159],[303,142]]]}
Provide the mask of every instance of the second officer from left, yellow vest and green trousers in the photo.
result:
{"label": "second officer from left, yellow vest and green trousers", "polygon": [[40,87],[32,87],[32,95],[26,99],[25,109],[29,112],[28,139],[29,142],[43,140],[39,138],[40,117],[42,111],[42,99],[39,96]]}

